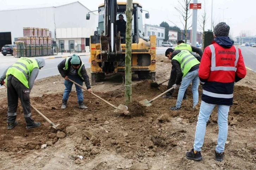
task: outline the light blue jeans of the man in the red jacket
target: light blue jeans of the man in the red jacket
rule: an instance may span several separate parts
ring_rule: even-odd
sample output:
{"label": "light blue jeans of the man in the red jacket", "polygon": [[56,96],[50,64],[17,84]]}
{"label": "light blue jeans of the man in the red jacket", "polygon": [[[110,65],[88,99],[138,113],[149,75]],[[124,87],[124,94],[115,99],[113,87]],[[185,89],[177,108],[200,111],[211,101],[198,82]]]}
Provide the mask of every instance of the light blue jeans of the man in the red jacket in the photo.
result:
{"label": "light blue jeans of the man in the red jacket", "polygon": [[[194,141],[194,150],[201,151],[203,146],[203,141],[205,139],[205,130],[206,123],[209,120],[209,117],[212,113],[216,105],[206,103],[202,101],[199,117],[196,125],[196,134]],[[229,112],[229,107],[226,105],[218,105],[218,126],[219,126],[219,134],[216,146],[216,152],[223,152],[225,149],[225,143],[227,140],[227,116]]]}

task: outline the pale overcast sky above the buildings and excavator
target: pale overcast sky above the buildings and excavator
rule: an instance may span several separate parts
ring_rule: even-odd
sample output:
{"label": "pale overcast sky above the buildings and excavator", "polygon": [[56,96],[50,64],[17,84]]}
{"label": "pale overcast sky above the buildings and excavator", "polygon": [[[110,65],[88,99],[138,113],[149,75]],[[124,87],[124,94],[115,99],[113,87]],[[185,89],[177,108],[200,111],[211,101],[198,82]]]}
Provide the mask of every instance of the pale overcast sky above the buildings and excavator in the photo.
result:
{"label": "pale overcast sky above the buildings and excavator", "polygon": [[[125,0],[121,0],[125,1]],[[183,29],[183,25],[178,17],[179,13],[175,10],[175,7],[179,6],[178,1],[184,0],[134,0],[142,5],[143,10],[150,12],[150,19],[143,19],[144,24],[159,25],[162,21],[166,21],[169,25],[173,25],[169,20],[173,21],[177,26]],[[74,1],[67,0],[0,0],[0,10],[6,10],[17,6],[27,5],[41,5],[49,4],[56,6],[57,4],[65,4]],[[104,3],[104,0],[79,0],[84,6],[90,10],[97,10],[98,5]],[[211,29],[211,9],[212,0],[205,0],[207,24],[206,30]],[[202,3],[204,6],[204,0],[198,0],[198,3]],[[233,37],[239,36],[240,33],[246,33],[246,36],[256,36],[256,1],[255,0],[213,0],[213,20],[218,23],[224,21],[231,27],[231,33]],[[75,9],[74,9],[75,10]],[[200,20],[203,10],[198,10],[198,20]],[[190,11],[192,14],[192,10]],[[18,17],[18,16],[17,16]],[[85,18],[85,17],[84,17]],[[145,17],[144,17],[145,18]],[[231,19],[230,19],[231,18]],[[24,18],[25,19],[25,18]],[[189,23],[191,23],[191,20]],[[197,30],[200,30],[199,23],[197,23]]]}

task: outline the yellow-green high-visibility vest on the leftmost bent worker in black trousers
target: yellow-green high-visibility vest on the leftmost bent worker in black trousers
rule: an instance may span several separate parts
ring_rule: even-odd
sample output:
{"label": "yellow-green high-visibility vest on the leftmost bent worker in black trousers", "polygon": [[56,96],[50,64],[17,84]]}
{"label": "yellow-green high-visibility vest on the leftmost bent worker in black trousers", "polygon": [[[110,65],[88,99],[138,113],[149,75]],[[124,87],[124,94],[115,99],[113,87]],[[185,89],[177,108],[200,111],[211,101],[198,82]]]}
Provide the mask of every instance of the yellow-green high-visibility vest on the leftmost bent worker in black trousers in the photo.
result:
{"label": "yellow-green high-visibility vest on the leftmost bent worker in black trousers", "polygon": [[22,82],[26,88],[29,88],[28,80],[34,68],[39,68],[35,59],[21,57],[7,70],[6,77],[11,74]]}

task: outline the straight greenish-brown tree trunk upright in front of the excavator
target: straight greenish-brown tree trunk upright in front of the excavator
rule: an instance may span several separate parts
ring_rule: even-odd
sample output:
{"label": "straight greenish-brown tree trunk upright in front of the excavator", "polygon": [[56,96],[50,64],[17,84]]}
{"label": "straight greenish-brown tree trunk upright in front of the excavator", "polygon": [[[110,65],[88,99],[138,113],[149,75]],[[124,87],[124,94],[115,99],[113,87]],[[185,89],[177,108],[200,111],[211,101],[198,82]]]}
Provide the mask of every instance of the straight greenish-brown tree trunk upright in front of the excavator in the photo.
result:
{"label": "straight greenish-brown tree trunk upright in front of the excavator", "polygon": [[133,0],[126,4],[125,105],[132,101],[132,21]]}

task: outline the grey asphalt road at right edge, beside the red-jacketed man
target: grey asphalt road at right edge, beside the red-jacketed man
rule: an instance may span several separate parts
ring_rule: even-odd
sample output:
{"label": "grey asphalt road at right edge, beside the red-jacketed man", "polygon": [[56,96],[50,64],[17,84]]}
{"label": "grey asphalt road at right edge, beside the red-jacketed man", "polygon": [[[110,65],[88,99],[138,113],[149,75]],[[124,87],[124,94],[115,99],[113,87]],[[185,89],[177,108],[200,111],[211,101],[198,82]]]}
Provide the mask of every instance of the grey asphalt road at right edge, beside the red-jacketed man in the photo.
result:
{"label": "grey asphalt road at right edge, beside the red-jacketed man", "polygon": [[242,55],[244,57],[245,67],[256,72],[256,47],[239,47],[242,51]]}

